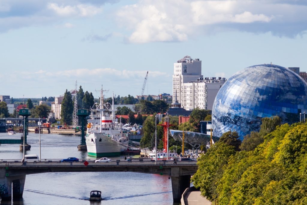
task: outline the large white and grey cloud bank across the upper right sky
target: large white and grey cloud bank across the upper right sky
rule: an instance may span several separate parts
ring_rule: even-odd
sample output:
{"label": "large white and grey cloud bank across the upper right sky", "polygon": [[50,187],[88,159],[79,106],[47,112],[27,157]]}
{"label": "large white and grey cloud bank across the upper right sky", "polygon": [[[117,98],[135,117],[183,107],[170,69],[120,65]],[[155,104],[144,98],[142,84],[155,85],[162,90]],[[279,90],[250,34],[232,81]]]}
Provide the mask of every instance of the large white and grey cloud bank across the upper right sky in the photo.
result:
{"label": "large white and grey cloud bank across the upper right sky", "polygon": [[[291,37],[307,30],[305,3],[286,0],[143,0],[116,16],[131,31],[131,43],[186,41],[229,29]],[[293,23],[299,26],[293,29]]]}

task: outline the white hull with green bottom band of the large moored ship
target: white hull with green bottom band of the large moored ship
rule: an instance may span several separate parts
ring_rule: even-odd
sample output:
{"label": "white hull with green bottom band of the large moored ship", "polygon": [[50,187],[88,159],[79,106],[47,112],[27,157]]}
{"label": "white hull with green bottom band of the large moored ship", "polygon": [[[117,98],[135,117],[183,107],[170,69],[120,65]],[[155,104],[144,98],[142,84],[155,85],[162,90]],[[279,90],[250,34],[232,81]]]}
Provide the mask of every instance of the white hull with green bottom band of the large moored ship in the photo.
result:
{"label": "white hull with green bottom band of the large moored ship", "polygon": [[95,157],[118,156],[127,149],[125,145],[128,145],[128,142],[120,143],[98,132],[85,137],[85,141],[87,154]]}

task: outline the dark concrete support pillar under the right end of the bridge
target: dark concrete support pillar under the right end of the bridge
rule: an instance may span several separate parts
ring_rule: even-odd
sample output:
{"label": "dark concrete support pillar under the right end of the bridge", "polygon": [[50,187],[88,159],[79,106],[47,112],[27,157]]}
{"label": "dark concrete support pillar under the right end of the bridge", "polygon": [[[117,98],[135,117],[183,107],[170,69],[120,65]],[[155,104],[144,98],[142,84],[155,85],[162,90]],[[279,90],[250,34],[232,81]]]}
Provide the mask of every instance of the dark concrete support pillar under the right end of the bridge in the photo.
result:
{"label": "dark concrete support pillar under the right end of the bridge", "polygon": [[171,170],[173,201],[180,202],[181,195],[186,188],[190,187],[191,175],[179,175],[179,168]]}

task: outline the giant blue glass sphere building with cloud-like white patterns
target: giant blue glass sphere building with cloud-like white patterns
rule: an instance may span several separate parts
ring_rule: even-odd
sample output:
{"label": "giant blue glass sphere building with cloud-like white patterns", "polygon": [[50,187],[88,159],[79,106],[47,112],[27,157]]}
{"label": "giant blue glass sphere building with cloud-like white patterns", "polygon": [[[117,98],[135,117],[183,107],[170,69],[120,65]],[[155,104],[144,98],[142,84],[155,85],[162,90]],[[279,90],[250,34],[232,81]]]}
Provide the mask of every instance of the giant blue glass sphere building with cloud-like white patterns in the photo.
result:
{"label": "giant blue glass sphere building with cloud-like white patterns", "polygon": [[217,93],[213,134],[220,137],[232,130],[243,140],[259,131],[263,117],[278,115],[282,123],[292,124],[303,112],[307,113],[307,83],[299,75],[278,65],[254,65],[231,76]]}

